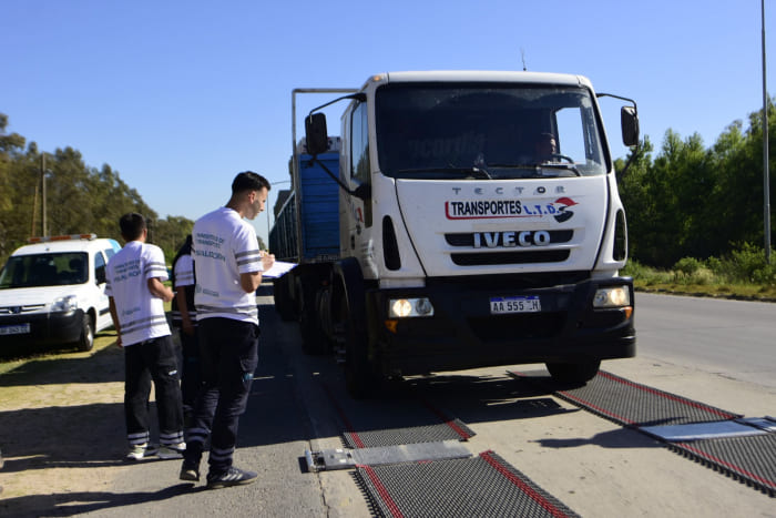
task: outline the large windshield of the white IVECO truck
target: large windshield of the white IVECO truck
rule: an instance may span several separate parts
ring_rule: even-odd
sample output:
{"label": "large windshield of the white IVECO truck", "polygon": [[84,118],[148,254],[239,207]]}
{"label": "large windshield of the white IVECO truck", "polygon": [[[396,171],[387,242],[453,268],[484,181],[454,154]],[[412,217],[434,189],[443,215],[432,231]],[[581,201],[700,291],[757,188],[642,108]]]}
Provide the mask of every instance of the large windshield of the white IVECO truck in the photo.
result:
{"label": "large windshield of the white IVECO truck", "polygon": [[382,174],[461,180],[605,174],[584,88],[389,83],[375,121]]}

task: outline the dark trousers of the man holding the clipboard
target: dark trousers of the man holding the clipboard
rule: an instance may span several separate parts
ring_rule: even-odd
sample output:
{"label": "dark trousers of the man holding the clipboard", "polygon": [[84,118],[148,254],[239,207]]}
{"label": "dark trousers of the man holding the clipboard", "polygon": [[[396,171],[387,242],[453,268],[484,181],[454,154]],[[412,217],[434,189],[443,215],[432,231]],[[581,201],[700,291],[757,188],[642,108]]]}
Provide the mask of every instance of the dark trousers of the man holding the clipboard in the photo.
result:
{"label": "dark trousers of the man holding the clipboard", "polygon": [[232,466],[239,416],[258,365],[258,326],[232,318],[198,322],[202,386],[186,430],[187,463],[198,464],[211,435],[211,473]]}

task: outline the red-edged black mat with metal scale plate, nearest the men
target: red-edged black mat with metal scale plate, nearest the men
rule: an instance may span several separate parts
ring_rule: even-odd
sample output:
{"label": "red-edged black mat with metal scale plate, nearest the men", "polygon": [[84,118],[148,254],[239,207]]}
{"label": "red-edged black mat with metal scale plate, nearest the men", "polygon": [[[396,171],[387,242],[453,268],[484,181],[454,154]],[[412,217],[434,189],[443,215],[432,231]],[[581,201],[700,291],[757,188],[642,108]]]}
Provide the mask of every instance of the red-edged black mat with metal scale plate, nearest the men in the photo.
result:
{"label": "red-edged black mat with metal scale plate, nearest the men", "polygon": [[[450,423],[350,430],[346,444],[378,446],[307,450],[305,458],[310,471],[354,469],[376,516],[578,516],[496,453],[473,457],[461,441],[474,433],[458,419]],[[456,439],[435,440],[450,430]]]}

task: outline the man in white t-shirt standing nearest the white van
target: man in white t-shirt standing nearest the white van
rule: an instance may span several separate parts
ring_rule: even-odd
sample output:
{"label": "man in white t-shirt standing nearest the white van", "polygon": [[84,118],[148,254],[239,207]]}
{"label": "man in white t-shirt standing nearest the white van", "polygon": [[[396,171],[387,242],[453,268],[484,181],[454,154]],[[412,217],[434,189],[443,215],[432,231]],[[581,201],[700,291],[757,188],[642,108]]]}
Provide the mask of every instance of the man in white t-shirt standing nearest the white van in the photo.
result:
{"label": "man in white t-shirt standing nearest the white van", "polygon": [[116,345],[124,348],[124,415],[130,441],[126,459],[140,460],[156,454],[149,443],[152,379],[159,415],[159,457],[181,458],[186,445],[177,352],[164,315],[164,303],[173,298],[172,290],[163,284],[167,280],[164,253],[145,243],[149,230],[142,215],[124,214],[119,225],[126,244],[108,263],[105,294],[119,336]]}

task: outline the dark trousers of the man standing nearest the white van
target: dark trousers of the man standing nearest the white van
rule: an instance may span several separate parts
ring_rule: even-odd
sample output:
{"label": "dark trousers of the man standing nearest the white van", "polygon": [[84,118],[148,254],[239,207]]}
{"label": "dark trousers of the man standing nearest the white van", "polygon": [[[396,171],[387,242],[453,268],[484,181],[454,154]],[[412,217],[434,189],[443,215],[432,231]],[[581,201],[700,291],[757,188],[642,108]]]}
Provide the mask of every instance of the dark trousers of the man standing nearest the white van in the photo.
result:
{"label": "dark trousers of the man standing nearest the white van", "polygon": [[124,347],[124,415],[131,445],[149,441],[149,396],[153,380],[160,444],[183,441],[183,409],[177,354],[171,336]]}

